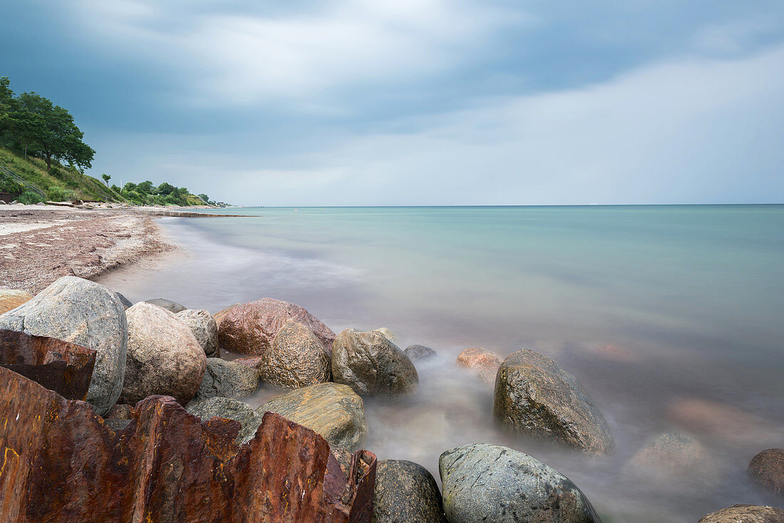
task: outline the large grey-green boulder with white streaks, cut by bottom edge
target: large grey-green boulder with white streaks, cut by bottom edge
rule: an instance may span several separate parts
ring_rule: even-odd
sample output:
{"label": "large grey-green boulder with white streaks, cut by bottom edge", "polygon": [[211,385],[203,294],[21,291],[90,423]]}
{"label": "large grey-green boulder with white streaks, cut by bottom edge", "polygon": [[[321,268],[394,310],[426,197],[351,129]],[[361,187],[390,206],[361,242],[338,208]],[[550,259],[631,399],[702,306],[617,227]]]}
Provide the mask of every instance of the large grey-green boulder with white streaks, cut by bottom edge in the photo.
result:
{"label": "large grey-green boulder with white streaks, cut by bottom edge", "polygon": [[500,445],[475,443],[438,459],[450,523],[594,523],[580,489],[537,459]]}

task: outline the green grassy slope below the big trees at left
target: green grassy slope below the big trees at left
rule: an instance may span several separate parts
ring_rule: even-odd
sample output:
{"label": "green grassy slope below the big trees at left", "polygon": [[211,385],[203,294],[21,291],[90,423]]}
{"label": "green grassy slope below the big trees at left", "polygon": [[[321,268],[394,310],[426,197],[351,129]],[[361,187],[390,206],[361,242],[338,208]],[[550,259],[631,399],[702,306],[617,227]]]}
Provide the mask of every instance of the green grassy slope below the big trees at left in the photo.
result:
{"label": "green grassy slope below the big trees at left", "polygon": [[93,176],[74,173],[56,165],[52,165],[52,171],[46,173],[46,164],[42,159],[27,157],[25,160],[2,147],[0,147],[0,165],[11,169],[47,194],[54,188],[60,188],[65,191],[73,191],[74,198],[79,200],[125,202],[125,198],[103,185]]}

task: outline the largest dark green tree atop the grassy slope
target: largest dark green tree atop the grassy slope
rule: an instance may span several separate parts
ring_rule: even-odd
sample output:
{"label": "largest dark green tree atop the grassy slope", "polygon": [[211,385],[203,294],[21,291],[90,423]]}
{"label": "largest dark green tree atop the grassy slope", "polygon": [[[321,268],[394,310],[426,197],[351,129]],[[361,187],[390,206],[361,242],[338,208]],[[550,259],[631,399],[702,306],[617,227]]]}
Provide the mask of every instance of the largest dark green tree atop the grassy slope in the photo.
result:
{"label": "largest dark green tree atop the grassy slope", "polygon": [[34,147],[44,158],[47,172],[52,160],[66,160],[79,167],[90,167],[95,151],[82,141],[84,133],[74,124],[74,117],[59,105],[37,93],[22,93],[9,114],[11,133],[21,144]]}

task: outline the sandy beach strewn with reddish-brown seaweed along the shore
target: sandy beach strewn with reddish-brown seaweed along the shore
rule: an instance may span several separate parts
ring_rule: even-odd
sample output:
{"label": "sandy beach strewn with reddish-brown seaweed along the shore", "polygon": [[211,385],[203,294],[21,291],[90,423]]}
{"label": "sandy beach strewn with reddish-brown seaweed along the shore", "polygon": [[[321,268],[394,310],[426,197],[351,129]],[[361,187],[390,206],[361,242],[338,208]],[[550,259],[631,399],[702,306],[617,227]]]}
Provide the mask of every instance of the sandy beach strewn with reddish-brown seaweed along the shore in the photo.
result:
{"label": "sandy beach strewn with reddish-brown seaweed along the shore", "polygon": [[176,249],[133,209],[0,206],[0,288],[36,293],[61,276],[96,278]]}

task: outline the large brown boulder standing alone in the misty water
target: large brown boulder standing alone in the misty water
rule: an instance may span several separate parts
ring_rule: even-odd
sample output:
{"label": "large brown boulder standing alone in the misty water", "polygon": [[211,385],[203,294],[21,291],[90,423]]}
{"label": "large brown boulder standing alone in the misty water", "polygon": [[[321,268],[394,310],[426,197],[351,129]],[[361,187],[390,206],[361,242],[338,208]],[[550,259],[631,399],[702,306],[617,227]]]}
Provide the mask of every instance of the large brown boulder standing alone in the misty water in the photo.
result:
{"label": "large brown boulder standing alone in the misty water", "polygon": [[495,379],[493,416],[501,427],[588,454],[612,449],[612,434],[588,393],[543,354],[518,350]]}

